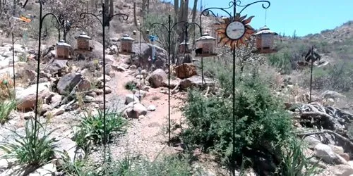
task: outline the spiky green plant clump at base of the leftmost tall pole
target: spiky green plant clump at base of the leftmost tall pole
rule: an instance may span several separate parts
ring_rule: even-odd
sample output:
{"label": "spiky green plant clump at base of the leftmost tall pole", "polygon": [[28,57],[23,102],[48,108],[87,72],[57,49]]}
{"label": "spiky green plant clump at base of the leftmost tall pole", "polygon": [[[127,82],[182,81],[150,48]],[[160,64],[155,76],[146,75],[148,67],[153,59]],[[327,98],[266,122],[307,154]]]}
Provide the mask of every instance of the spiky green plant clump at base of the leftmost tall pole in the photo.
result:
{"label": "spiky green plant clump at base of the leftmost tall pole", "polygon": [[50,137],[54,131],[47,132],[40,122],[35,127],[34,120],[28,120],[25,123],[25,135],[13,130],[15,142],[6,142],[0,146],[6,152],[2,158],[16,158],[16,164],[39,168],[54,159],[54,153],[57,152],[57,141]]}

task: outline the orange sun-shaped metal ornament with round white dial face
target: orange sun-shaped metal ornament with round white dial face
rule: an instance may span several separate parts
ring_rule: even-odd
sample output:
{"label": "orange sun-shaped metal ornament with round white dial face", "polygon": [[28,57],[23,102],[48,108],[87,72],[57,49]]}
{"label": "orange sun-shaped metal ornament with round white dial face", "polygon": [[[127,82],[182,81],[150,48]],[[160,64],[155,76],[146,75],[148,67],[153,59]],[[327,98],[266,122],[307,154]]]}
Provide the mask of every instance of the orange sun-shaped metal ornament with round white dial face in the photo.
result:
{"label": "orange sun-shaped metal ornament with round white dial face", "polygon": [[223,46],[227,45],[231,49],[235,49],[235,47],[239,48],[239,46],[243,44],[248,46],[246,40],[249,40],[251,35],[255,32],[253,27],[249,25],[253,17],[254,16],[251,16],[245,19],[246,15],[240,16],[240,14],[237,13],[234,20],[225,18],[223,19],[224,22],[216,23],[215,32],[220,37],[220,42],[218,43],[223,44]]}

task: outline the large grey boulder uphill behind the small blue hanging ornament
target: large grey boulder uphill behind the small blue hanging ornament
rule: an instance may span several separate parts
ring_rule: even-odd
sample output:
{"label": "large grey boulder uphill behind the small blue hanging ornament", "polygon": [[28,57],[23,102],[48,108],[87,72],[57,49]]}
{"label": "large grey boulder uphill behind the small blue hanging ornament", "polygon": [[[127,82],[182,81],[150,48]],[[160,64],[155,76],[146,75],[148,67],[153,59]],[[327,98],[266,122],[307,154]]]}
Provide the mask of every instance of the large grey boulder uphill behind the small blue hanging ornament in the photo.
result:
{"label": "large grey boulder uphill behind the small blue hanging ornament", "polygon": [[[152,48],[155,47],[155,61],[152,61]],[[168,52],[162,49],[160,46],[155,46],[153,44],[142,43],[141,49],[140,44],[133,44],[133,52],[136,56],[133,57],[132,64],[136,66],[141,66],[143,69],[151,68],[151,65],[154,65],[152,70],[161,68],[167,68],[167,58]],[[140,56],[140,57],[139,57]],[[140,58],[140,59],[139,59]],[[150,60],[150,61],[149,61]]]}

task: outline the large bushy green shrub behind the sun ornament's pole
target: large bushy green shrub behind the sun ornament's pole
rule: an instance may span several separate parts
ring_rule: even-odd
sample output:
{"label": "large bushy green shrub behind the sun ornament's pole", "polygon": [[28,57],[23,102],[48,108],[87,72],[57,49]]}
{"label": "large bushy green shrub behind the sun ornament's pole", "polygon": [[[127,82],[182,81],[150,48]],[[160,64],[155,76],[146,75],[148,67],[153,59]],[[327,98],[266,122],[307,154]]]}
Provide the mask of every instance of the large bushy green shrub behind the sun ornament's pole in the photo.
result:
{"label": "large bushy green shrub behind the sun ornament's pole", "polygon": [[[215,153],[222,162],[227,161],[232,154],[232,99],[205,98],[200,92],[191,91],[187,102],[184,115],[188,127],[181,134],[186,145],[190,149],[200,146],[205,152]],[[247,147],[274,146],[287,139],[292,130],[281,101],[270,93],[258,75],[237,82],[234,113],[238,158]]]}

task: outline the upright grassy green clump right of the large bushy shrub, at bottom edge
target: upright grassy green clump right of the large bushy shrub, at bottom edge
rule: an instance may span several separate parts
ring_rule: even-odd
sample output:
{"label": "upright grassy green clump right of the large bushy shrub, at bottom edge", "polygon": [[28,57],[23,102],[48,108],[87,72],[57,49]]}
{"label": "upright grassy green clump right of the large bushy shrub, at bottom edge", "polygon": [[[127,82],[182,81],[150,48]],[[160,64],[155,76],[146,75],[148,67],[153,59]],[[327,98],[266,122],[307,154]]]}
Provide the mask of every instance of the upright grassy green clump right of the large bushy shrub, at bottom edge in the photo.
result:
{"label": "upright grassy green clump right of the large bushy shrub, at bottom edge", "polygon": [[304,155],[303,146],[294,138],[287,141],[283,146],[285,152],[282,154],[282,163],[277,168],[277,175],[310,176],[318,172],[318,166],[309,162],[312,157],[307,158]]}

